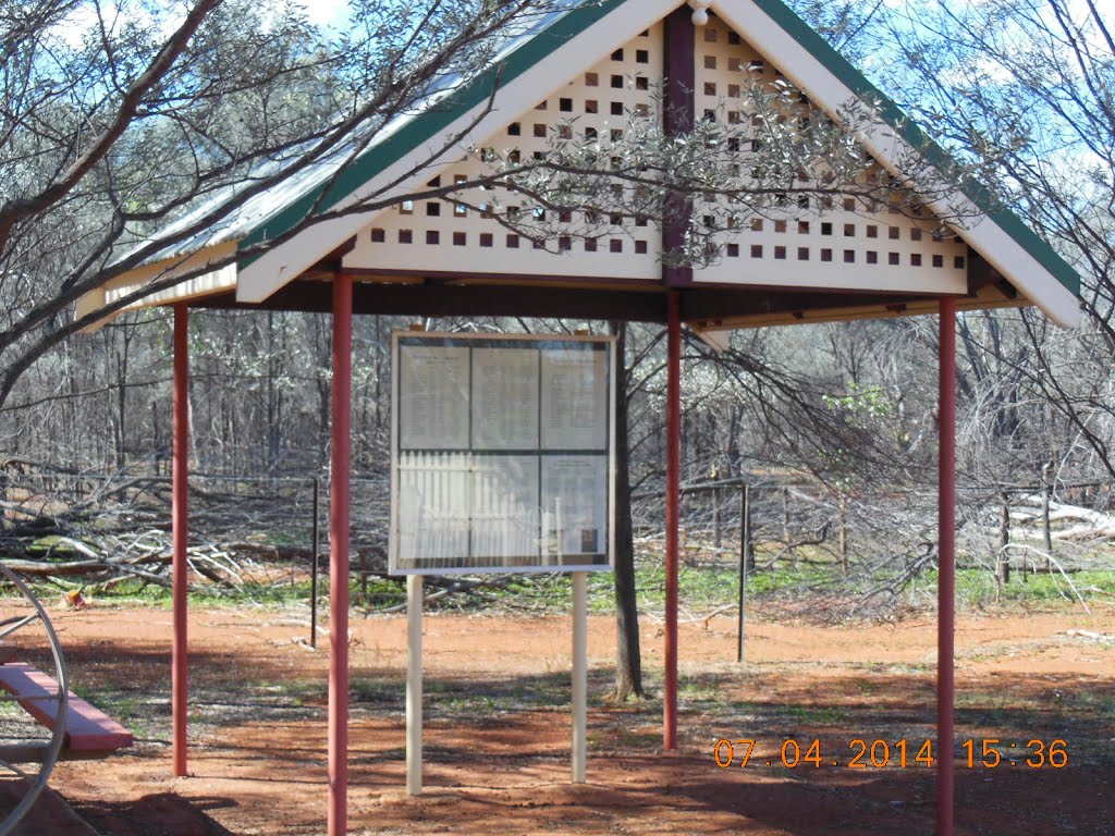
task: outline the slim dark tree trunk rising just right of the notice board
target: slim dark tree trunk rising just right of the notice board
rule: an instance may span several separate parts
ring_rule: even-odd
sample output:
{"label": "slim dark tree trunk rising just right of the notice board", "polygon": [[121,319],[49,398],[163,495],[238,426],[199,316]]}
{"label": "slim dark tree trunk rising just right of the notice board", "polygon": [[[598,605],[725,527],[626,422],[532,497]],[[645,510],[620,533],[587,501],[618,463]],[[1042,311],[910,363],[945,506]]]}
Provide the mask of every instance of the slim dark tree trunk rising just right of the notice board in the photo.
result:
{"label": "slim dark tree trunk rising just right of the notice board", "polygon": [[627,325],[610,323],[615,344],[615,700],[644,697],[628,474]]}

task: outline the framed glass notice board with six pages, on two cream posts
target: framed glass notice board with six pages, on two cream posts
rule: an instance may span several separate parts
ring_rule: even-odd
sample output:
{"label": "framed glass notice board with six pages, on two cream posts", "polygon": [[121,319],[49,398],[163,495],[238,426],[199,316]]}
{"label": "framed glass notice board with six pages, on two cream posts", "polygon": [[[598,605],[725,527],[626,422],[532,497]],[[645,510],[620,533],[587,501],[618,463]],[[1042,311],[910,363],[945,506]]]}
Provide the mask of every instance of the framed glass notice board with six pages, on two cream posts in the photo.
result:
{"label": "framed glass notice board with six pages, on two cream posts", "polygon": [[[615,357],[615,338],[609,336],[394,331],[391,333],[391,456],[388,573],[391,575],[452,575],[612,570],[615,560],[615,363],[619,361]],[[419,353],[415,351],[416,349],[433,349],[433,351]],[[445,362],[439,362],[439,350],[442,352],[440,359]],[[468,357],[467,405],[465,406],[468,421],[467,431],[460,426],[464,420],[462,415],[453,414],[454,410],[462,408],[459,391],[450,391],[454,387],[459,389],[463,386],[460,368],[462,350],[467,350]],[[407,369],[406,373],[404,373],[403,356],[407,351],[410,351],[413,356],[407,360]],[[511,426],[516,420],[516,417],[512,416],[511,410],[500,410],[497,405],[493,406],[487,401],[477,404],[475,398],[478,386],[484,386],[485,381],[489,387],[493,385],[492,381],[495,381],[494,385],[497,387],[514,387],[517,385],[520,386],[520,395],[524,391],[522,389],[523,386],[526,386],[529,389],[530,385],[527,380],[510,380],[504,382],[497,379],[498,373],[506,371],[507,368],[513,369],[516,364],[520,368],[525,368],[526,363],[525,357],[522,353],[523,351],[533,352],[537,356],[537,380],[535,381],[537,388],[537,407],[536,414],[533,416],[533,420],[536,424],[536,438],[533,446],[525,449],[521,448],[520,445],[524,444],[524,439],[530,435],[526,425],[531,420],[531,409],[527,407],[526,417],[520,416],[522,418],[520,426]],[[562,357],[560,352],[565,351],[602,352],[602,362],[604,366],[602,380],[598,379],[601,377],[599,375],[588,375],[584,376],[584,380],[573,380],[570,382],[569,378],[575,377],[575,369],[573,369],[573,376],[560,375],[553,371],[553,369],[561,366],[558,359]],[[481,354],[481,352],[484,353]],[[511,352],[518,353],[517,356],[513,356]],[[478,354],[481,356],[481,360],[477,360]],[[568,357],[572,359],[574,354],[571,353]],[[590,357],[594,358],[595,354],[593,353]],[[476,363],[483,363],[484,358],[488,359],[488,362],[495,370],[491,373],[478,376],[476,373]],[[546,377],[546,358],[549,358],[551,363],[550,378]],[[501,366],[498,362],[501,359],[507,362]],[[599,362],[600,360],[597,359],[591,361],[592,364]],[[488,367],[482,364],[478,369],[481,372],[484,372],[488,370]],[[482,378],[479,383],[477,382],[478,377]],[[433,381],[433,386],[425,389],[418,386],[418,382],[424,380],[427,382]],[[585,380],[590,382],[585,383]],[[551,387],[549,401],[544,391],[546,382]],[[439,383],[442,385],[440,389],[438,389]],[[597,419],[597,422],[590,421],[586,426],[582,420],[581,424],[578,424],[576,418],[583,419],[584,417],[583,414],[571,417],[578,409],[578,406],[565,408],[562,406],[564,401],[555,406],[553,397],[555,393],[554,388],[562,385],[581,387],[574,392],[574,396],[581,396],[580,399],[573,397],[572,401],[575,401],[581,408],[588,407],[593,410],[593,418]],[[584,386],[593,388],[591,404],[583,397],[585,395]],[[598,389],[600,386],[603,389],[602,393]],[[566,391],[565,393],[568,395],[569,392]],[[415,399],[418,401],[417,407],[415,406]],[[448,407],[446,407],[447,402]],[[555,429],[553,426],[546,426],[543,416],[544,404],[550,407],[551,420],[553,419],[554,410],[560,414],[560,418],[569,419],[572,429],[566,427],[564,436],[562,436],[562,431]],[[477,417],[478,409],[481,410],[479,417]],[[514,410],[516,415],[521,411]],[[404,424],[405,415],[410,419],[408,424]],[[600,418],[605,424],[602,434],[598,426]],[[492,435],[491,426],[487,426],[486,429],[477,428],[477,422],[483,424],[487,421],[491,424],[493,420],[500,424],[502,429],[508,432],[516,443],[502,445],[500,438]],[[576,441],[583,440],[585,432],[592,434],[591,443],[588,446],[583,444],[578,445]],[[549,438],[551,444],[556,444],[556,446],[543,446],[544,437]],[[477,447],[475,444],[477,439],[484,440],[487,446]],[[493,444],[494,447],[491,446]],[[421,459],[423,456],[427,458]],[[529,513],[524,517],[524,524],[520,527],[525,528],[527,532],[535,531],[536,527],[537,536],[534,537],[536,546],[532,546],[532,550],[536,547],[536,551],[532,551],[529,554],[503,554],[487,557],[483,554],[474,554],[472,551],[474,548],[474,534],[477,537],[483,535],[482,524],[477,521],[479,516],[476,511],[477,500],[473,497],[474,493],[481,493],[479,487],[474,487],[478,484],[477,479],[484,478],[482,474],[495,473],[496,476],[493,478],[495,478],[495,484],[500,484],[497,472],[501,463],[512,465],[512,459],[518,459],[517,466],[524,467],[529,466],[529,461],[532,458],[536,461],[537,467],[537,493],[535,494],[535,507],[533,507],[531,513],[536,516],[536,519],[531,518]],[[423,461],[427,464],[423,466]],[[447,464],[433,465],[433,463],[440,461]],[[495,467],[484,467],[483,465],[487,463],[493,463]],[[551,472],[555,474],[552,476],[551,482],[547,482],[543,476],[547,464]],[[603,469],[602,496],[597,493],[600,479],[598,478],[598,483],[591,482],[593,476],[600,476],[598,468],[601,467]],[[593,504],[592,521],[594,523],[602,522],[607,526],[604,536],[598,536],[597,538],[598,551],[594,553],[575,551],[578,535],[575,532],[566,531],[562,525],[560,503],[555,503],[556,509],[554,513],[547,512],[543,507],[542,498],[546,494],[547,488],[552,494],[554,490],[559,490],[555,485],[563,485],[560,475],[563,468],[565,472],[572,474],[573,484],[575,484],[576,472],[580,470],[582,476],[593,485],[594,496],[592,500],[582,499],[581,504],[582,507],[586,502]],[[417,526],[411,518],[414,516],[413,509],[409,504],[410,500],[403,496],[403,483],[405,478],[414,479],[421,478],[421,476],[428,478],[430,473],[437,469],[464,474],[463,483],[459,478],[456,480],[457,494],[450,495],[455,497],[452,500],[454,506],[459,505],[463,509],[467,523],[465,524],[465,528],[462,529],[462,521],[458,518],[450,524],[450,528],[455,529],[458,537],[462,536],[462,531],[465,531],[468,545],[464,550],[465,554],[456,554],[454,557],[444,557],[440,555],[436,557],[418,557],[415,555],[415,552],[419,548],[417,545],[418,537],[420,536],[418,529],[421,526]],[[415,474],[419,474],[419,476],[415,477]],[[518,482],[522,483],[522,479]],[[463,484],[464,487],[462,486]],[[411,489],[411,486],[408,485],[407,489]],[[464,494],[464,496],[460,494]],[[503,500],[506,503],[505,494],[503,496]],[[520,498],[522,499],[522,497]],[[529,499],[526,504],[530,504]],[[598,513],[601,507],[603,511],[602,519]],[[407,518],[404,519],[404,517]],[[555,519],[556,522],[554,522]],[[591,542],[592,531],[592,528],[585,528],[581,532],[582,548],[585,541]],[[504,536],[506,535],[504,534]],[[526,536],[527,539],[531,539],[533,535],[521,536]],[[563,544],[570,542],[574,544],[574,551],[566,554]],[[601,546],[603,551],[599,551]],[[409,555],[406,554],[408,551],[410,552]],[[591,555],[592,560],[578,560],[584,555]],[[424,561],[428,562],[427,565],[423,565]],[[444,565],[438,565],[439,563]]]}

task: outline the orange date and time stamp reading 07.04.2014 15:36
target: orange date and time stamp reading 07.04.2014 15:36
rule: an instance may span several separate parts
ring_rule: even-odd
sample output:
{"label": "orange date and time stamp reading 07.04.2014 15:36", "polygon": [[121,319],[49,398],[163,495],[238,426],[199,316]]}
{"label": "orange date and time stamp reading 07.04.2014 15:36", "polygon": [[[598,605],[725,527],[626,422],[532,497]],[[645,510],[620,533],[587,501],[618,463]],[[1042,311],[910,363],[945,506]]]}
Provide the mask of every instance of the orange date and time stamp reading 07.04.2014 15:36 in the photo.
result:
{"label": "orange date and time stamp reading 07.04.2014 15:36", "polygon": [[[929,769],[937,764],[937,743],[933,740],[883,740],[852,738],[846,746],[820,740],[783,740],[777,751],[756,754],[757,740],[720,738],[712,745],[712,758],[720,769],[731,767],[846,767],[849,769]],[[777,741],[775,741],[777,743]],[[998,738],[968,739],[961,742],[957,757],[969,769],[1018,768],[1060,769],[1068,764],[1068,743],[1060,739],[1000,740]]]}

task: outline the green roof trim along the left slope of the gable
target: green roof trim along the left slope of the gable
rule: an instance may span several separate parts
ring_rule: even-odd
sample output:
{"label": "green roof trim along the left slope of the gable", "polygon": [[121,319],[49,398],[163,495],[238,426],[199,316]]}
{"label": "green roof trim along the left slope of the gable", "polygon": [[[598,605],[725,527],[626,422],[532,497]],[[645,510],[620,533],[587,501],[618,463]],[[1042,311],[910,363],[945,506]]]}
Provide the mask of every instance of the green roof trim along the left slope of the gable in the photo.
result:
{"label": "green roof trim along the left slope of the gable", "polygon": [[[320,201],[323,207],[336,205],[361,185],[388,166],[397,163],[421,143],[430,139],[439,130],[445,130],[455,120],[485,101],[495,85],[506,85],[514,80],[559,47],[576,37],[601,18],[619,8],[626,0],[602,0],[571,9],[560,19],[537,32],[511,55],[437,103],[426,113],[404,125],[382,143],[375,145],[358,156],[328,186],[317,186],[293,202],[280,207],[274,214],[248,232],[237,243],[237,250],[275,237],[300,223]],[[241,262],[241,268],[253,259]]]}

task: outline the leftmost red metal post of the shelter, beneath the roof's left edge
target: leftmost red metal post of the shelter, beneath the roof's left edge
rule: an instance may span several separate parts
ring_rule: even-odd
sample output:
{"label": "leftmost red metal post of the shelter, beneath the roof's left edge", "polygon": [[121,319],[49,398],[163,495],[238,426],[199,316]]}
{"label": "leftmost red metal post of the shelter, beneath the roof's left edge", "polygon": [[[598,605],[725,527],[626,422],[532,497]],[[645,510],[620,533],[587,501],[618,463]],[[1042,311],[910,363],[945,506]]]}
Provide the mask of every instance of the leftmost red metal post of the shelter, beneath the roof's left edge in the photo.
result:
{"label": "leftmost red metal post of the shelter, beneath the roof's left edge", "polygon": [[190,535],[190,308],[174,305],[174,441],[172,451],[171,532],[173,541],[172,576],[174,585],[174,643],[171,660],[171,707],[174,739],[174,774],[186,774],[187,653],[186,614],[188,607],[186,546]]}

